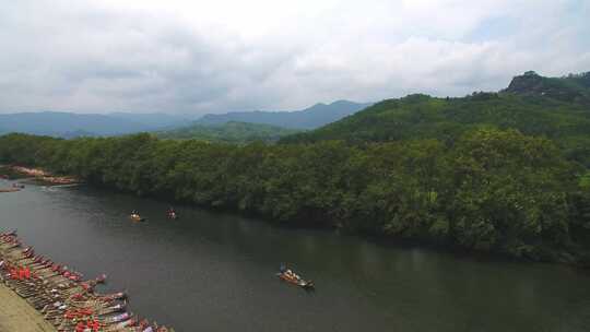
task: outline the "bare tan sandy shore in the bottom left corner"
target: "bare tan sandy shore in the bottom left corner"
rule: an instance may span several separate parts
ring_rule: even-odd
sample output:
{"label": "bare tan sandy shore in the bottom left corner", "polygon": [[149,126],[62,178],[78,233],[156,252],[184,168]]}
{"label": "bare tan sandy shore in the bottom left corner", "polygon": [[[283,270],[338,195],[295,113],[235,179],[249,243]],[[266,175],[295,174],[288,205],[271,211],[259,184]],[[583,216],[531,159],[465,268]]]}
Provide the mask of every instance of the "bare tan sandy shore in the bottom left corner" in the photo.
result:
{"label": "bare tan sandy shore in the bottom left corner", "polygon": [[26,300],[0,283],[0,332],[56,332]]}

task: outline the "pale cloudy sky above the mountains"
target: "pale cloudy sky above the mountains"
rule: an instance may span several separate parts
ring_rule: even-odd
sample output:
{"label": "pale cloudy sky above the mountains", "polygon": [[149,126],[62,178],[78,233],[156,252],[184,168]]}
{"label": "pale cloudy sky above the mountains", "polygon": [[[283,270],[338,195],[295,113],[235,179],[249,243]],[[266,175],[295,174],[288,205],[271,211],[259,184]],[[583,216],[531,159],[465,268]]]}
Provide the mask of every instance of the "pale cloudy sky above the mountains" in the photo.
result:
{"label": "pale cloudy sky above the mountains", "polygon": [[590,0],[0,0],[0,112],[227,112],[590,71]]}

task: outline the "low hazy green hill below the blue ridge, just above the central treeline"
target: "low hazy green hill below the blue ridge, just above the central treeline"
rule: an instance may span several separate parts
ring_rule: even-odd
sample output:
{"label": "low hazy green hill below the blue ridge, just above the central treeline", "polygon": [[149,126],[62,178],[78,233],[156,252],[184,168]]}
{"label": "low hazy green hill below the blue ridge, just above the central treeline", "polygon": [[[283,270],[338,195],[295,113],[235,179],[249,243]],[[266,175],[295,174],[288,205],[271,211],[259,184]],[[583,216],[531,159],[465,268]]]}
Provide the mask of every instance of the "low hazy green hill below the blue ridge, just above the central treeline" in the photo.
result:
{"label": "low hazy green hill below the blue ridge, just above the central treeline", "polygon": [[222,124],[199,124],[156,132],[161,139],[189,140],[210,142],[248,143],[253,141],[275,142],[281,137],[298,132],[295,129],[270,124],[231,121]]}

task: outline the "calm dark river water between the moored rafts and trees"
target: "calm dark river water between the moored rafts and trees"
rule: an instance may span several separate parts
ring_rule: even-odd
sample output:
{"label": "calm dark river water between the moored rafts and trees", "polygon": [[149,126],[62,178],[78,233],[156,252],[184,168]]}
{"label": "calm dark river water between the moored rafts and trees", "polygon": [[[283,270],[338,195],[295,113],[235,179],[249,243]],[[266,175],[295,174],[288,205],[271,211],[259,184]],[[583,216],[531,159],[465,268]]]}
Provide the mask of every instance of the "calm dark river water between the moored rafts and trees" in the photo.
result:
{"label": "calm dark river water between the moored rafts and trees", "polygon": [[[0,180],[0,188],[9,186]],[[177,331],[590,331],[590,273],[291,229],[87,187],[0,193],[0,230]],[[137,209],[145,223],[129,221]],[[315,293],[280,282],[287,262]]]}

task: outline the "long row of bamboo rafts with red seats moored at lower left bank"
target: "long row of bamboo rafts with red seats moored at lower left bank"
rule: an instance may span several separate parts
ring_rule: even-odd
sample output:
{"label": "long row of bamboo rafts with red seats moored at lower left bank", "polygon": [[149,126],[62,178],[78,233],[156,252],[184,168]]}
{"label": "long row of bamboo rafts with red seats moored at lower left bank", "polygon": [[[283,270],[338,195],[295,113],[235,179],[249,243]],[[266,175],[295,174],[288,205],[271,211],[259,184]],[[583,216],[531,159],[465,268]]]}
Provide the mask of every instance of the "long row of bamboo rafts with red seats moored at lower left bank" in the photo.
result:
{"label": "long row of bamboo rafts with red seats moored at lower left bank", "polygon": [[125,293],[96,293],[94,288],[105,280],[102,275],[83,281],[82,274],[36,256],[15,232],[0,233],[0,282],[26,299],[58,331],[174,331],[128,312]]}

